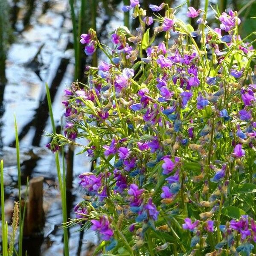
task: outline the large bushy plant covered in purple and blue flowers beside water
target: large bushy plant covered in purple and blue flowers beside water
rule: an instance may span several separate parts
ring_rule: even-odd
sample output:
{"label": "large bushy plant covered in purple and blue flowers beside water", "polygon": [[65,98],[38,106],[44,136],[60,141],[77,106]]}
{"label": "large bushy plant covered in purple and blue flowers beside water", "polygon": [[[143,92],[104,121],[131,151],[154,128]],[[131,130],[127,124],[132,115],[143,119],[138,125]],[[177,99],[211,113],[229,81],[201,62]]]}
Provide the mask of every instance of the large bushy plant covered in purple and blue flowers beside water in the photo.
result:
{"label": "large bushy plant covered in purple and blue flowers beside water", "polygon": [[93,224],[112,255],[255,253],[256,52],[238,34],[237,12],[212,29],[189,7],[194,29],[167,3],[149,7],[155,18],[138,0],[123,7],[139,27],[117,28],[112,47],[92,29],[81,35],[87,55],[97,45],[108,61],[65,90],[66,139],[48,145],[92,157],[74,222]]}

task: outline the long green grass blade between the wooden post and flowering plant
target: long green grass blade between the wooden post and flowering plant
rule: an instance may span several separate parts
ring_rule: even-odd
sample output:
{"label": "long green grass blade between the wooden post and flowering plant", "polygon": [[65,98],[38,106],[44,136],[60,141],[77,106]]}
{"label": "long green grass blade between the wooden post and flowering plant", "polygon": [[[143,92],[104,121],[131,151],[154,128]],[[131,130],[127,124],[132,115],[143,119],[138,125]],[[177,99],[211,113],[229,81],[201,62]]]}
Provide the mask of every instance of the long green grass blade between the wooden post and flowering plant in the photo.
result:
{"label": "long green grass blade between the wooden post and flowering plant", "polygon": [[[52,131],[54,134],[56,134],[56,128],[52,113],[52,101],[51,96],[49,92],[48,84],[45,84],[46,88],[46,95],[47,95],[47,102],[49,107],[49,115],[52,123]],[[65,175],[65,169],[63,168],[62,174],[61,174],[61,166],[60,166],[60,160],[58,152],[55,153],[55,163],[56,163],[56,169],[57,169],[57,175],[58,175],[58,181],[61,191],[61,204],[62,204],[62,218],[63,218],[63,236],[64,236],[64,256],[69,256],[69,247],[68,247],[68,230],[67,230],[67,196],[66,196],[66,175]]]}

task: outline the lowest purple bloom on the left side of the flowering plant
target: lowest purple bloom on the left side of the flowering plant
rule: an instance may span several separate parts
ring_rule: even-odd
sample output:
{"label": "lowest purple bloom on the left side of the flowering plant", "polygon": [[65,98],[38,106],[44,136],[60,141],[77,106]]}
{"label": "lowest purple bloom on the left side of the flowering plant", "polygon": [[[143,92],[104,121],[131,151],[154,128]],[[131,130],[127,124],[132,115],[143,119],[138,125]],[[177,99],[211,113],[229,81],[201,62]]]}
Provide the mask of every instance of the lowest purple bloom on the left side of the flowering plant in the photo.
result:
{"label": "lowest purple bloom on the left side of the flowering plant", "polygon": [[91,220],[90,222],[93,224],[91,229],[99,231],[102,240],[110,240],[112,238],[114,231],[106,215],[100,216],[99,221]]}

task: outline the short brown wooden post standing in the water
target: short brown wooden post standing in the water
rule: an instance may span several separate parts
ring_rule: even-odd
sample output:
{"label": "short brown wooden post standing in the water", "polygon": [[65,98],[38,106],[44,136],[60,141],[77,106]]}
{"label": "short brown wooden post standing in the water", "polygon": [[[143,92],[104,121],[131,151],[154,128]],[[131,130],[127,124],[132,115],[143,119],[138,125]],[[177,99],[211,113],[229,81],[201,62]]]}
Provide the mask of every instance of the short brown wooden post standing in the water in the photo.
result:
{"label": "short brown wooden post standing in the water", "polygon": [[43,182],[44,177],[35,177],[29,180],[29,201],[27,203],[25,236],[41,232],[44,227],[43,210]]}

